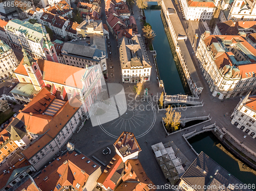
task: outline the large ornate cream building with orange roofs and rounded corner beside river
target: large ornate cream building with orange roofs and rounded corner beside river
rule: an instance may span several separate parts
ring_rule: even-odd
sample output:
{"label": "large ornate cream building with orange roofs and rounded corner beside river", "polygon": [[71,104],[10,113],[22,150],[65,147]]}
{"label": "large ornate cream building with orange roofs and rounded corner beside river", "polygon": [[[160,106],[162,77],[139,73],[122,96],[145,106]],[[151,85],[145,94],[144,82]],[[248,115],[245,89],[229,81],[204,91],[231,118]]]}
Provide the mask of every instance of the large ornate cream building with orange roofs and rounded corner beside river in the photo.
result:
{"label": "large ornate cream building with orange roofs and rounded corner beside river", "polygon": [[[244,52],[246,49],[248,52]],[[206,31],[201,36],[196,56],[212,96],[222,100],[245,96],[250,91],[255,94],[256,64],[249,60],[256,60],[255,53],[254,47],[241,36],[215,36]]]}

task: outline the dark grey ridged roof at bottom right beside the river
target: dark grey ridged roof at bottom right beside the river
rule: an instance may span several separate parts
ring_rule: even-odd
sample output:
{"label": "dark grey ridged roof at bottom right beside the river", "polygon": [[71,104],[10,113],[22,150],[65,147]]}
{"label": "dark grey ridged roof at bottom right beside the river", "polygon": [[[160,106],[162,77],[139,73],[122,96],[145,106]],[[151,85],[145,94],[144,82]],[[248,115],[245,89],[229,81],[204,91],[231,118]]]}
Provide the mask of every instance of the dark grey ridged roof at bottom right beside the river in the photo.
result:
{"label": "dark grey ridged roof at bottom right beside the river", "polygon": [[[229,184],[242,184],[237,178],[233,177],[225,169],[223,169],[218,163],[208,157],[205,153],[201,152],[195,161],[189,166],[187,171],[182,175],[182,180],[184,180],[188,185],[197,185],[199,191],[205,191],[204,185],[209,186],[206,190],[219,190],[215,189],[214,185],[225,185],[224,190],[227,191],[249,191],[250,189],[240,189],[234,187],[233,190],[228,188]],[[201,188],[199,189],[199,185]]]}

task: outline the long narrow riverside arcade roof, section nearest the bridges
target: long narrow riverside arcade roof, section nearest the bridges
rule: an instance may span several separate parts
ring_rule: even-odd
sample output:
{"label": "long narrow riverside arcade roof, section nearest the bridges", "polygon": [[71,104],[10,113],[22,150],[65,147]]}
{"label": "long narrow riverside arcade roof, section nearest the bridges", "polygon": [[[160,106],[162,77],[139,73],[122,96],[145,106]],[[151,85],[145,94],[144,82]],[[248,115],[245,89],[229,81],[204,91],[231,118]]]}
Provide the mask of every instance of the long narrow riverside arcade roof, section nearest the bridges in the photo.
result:
{"label": "long narrow riverside arcade roof, section nearest the bridges", "polygon": [[190,54],[187,50],[187,45],[186,45],[185,41],[183,39],[178,40],[178,44],[180,46],[180,50],[182,52],[183,58],[186,62],[187,69],[191,76],[191,79],[193,80],[193,82],[195,82],[195,84],[197,85],[197,88],[200,88],[200,87],[203,88],[203,84],[201,83],[201,81],[198,77],[197,70],[196,70],[195,65],[194,65],[194,63],[190,57]]}

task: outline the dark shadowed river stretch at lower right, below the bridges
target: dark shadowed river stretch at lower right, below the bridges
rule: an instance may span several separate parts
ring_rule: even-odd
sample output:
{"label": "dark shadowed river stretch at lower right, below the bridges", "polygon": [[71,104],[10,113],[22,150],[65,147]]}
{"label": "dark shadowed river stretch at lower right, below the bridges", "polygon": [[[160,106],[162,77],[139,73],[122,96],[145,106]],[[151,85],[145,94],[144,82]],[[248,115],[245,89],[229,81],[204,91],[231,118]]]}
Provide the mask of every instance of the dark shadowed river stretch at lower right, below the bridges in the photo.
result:
{"label": "dark shadowed river stretch at lower right, below the bridges", "polygon": [[210,158],[212,158],[219,165],[221,165],[222,168],[224,168],[226,171],[228,171],[230,174],[232,174],[244,184],[256,184],[256,175],[251,172],[241,171],[241,165],[239,166],[239,163],[236,161],[238,159],[232,158],[234,156],[229,156],[227,153],[217,147],[218,144],[220,144],[220,141],[211,132],[196,135],[188,139],[188,141],[197,153],[203,151]]}

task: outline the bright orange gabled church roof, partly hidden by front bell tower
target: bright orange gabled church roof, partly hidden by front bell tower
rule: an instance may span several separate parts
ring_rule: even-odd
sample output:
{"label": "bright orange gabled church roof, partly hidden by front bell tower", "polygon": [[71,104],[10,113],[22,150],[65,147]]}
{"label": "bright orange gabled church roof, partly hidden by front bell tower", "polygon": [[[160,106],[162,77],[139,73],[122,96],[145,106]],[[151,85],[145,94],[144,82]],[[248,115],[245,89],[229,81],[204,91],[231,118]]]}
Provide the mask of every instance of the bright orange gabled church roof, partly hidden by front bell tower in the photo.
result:
{"label": "bright orange gabled church roof, partly hidden by front bell tower", "polygon": [[[48,60],[34,59],[37,60],[38,66],[43,74],[43,80],[82,89],[81,75],[84,74],[86,69]],[[56,71],[58,72],[56,73]],[[14,73],[28,76],[23,65],[23,60],[15,69]]]}

